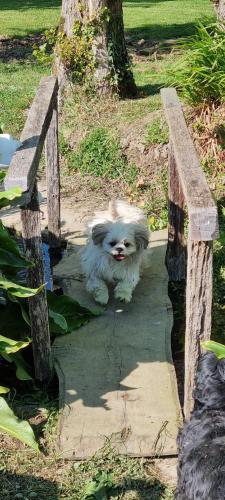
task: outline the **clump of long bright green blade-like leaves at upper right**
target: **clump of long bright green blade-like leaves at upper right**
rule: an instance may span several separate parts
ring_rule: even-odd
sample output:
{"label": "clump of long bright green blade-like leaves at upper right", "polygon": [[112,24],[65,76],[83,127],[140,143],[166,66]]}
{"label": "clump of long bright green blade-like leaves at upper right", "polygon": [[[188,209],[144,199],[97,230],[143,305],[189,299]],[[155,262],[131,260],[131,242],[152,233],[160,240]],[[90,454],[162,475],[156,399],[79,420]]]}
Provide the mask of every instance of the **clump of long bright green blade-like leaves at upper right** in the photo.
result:
{"label": "clump of long bright green blade-like leaves at upper right", "polygon": [[225,31],[218,24],[197,26],[181,44],[183,56],[168,75],[168,83],[193,104],[225,100]]}

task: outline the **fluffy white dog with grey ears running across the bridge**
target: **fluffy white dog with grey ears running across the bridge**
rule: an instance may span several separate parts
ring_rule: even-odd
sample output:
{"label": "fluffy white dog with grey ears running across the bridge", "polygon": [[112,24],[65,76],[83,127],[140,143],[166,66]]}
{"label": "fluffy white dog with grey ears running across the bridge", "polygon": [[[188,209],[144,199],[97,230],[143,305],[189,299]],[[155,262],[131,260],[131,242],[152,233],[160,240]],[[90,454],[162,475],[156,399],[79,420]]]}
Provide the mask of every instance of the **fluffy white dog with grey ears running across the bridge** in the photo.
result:
{"label": "fluffy white dog with grey ears running across the bridge", "polygon": [[130,302],[149,242],[143,212],[124,201],[113,201],[106,212],[96,213],[88,231],[81,257],[87,291],[100,304],[107,304],[107,283],[111,283],[115,285],[115,298]]}

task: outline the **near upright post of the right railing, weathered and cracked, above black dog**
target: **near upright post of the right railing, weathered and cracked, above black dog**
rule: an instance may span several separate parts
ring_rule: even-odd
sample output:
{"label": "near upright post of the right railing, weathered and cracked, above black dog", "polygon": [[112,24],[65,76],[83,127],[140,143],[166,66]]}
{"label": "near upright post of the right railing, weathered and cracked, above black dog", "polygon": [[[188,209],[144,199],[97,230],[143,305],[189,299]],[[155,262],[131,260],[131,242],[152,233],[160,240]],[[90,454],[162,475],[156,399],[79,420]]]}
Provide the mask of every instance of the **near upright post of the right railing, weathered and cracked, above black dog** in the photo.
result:
{"label": "near upright post of the right railing, weathered and cracked, above black dog", "polygon": [[188,266],[186,287],[186,334],[185,334],[185,418],[193,408],[193,389],[200,342],[209,340],[212,309],[211,241],[188,241]]}

